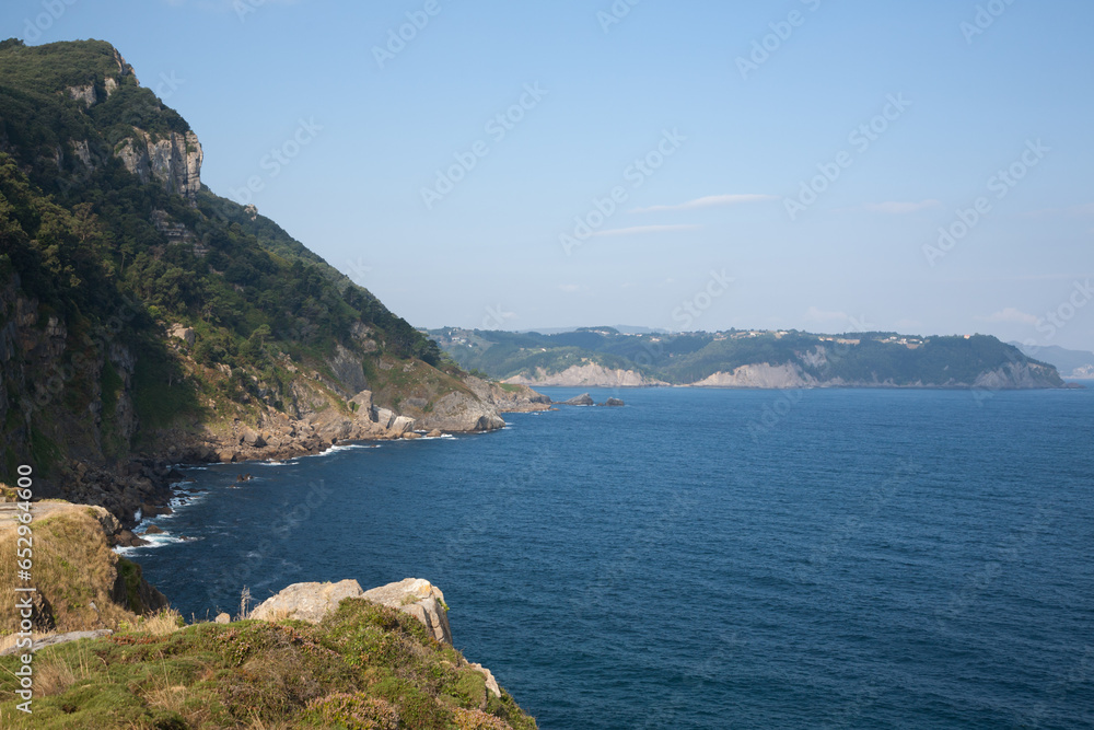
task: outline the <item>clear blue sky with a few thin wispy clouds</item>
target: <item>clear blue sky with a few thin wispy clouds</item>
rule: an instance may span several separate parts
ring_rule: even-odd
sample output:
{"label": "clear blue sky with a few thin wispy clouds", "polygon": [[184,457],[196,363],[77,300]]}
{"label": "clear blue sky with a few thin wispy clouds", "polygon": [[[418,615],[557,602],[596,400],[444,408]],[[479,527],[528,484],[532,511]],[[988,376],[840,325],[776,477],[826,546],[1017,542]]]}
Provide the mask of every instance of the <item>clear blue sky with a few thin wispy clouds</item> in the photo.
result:
{"label": "clear blue sky with a few thin wispy clouds", "polygon": [[8,0],[416,326],[1094,350],[1086,0]]}

